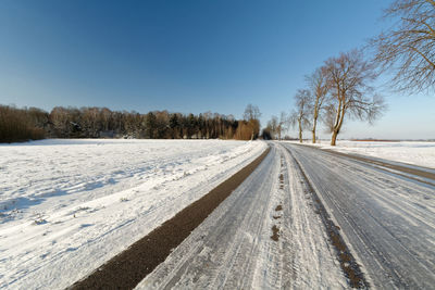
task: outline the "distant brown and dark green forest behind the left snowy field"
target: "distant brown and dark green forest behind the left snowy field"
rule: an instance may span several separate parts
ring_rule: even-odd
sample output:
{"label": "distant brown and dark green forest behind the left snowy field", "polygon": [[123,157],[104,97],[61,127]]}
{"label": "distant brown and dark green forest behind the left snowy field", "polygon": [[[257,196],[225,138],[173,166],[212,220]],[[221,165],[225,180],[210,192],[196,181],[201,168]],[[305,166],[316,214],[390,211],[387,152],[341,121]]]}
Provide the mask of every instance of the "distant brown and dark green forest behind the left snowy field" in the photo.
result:
{"label": "distant brown and dark green forest behind the left snowy field", "polygon": [[249,140],[258,138],[259,130],[258,118],[238,121],[216,113],[194,115],[153,111],[140,114],[107,108],[63,106],[48,113],[37,108],[0,105],[0,142],[44,138]]}

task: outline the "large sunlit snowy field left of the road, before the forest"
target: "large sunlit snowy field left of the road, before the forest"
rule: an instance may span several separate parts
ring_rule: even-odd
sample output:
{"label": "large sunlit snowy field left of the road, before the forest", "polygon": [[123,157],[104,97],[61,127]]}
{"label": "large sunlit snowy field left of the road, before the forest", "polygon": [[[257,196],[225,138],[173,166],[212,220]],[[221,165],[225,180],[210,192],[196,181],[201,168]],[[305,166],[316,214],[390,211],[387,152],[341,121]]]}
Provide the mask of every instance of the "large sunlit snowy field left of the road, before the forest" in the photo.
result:
{"label": "large sunlit snowy field left of the road, before the forest", "polygon": [[259,156],[261,141],[0,146],[0,288],[65,288]]}

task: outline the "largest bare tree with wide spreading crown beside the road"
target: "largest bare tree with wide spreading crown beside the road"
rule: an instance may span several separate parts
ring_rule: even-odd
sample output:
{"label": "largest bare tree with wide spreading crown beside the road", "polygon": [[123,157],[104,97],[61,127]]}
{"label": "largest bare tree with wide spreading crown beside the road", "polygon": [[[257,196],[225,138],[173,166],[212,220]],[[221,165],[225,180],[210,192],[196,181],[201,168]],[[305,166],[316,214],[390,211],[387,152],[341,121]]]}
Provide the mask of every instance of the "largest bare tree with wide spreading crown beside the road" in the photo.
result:
{"label": "largest bare tree with wide spreading crown beside the road", "polygon": [[369,121],[370,124],[385,109],[382,97],[373,94],[370,81],[376,78],[373,65],[363,60],[360,50],[340,53],[325,62],[325,74],[330,88],[330,110],[334,111],[331,124],[331,144],[335,146],[343,122],[348,113],[351,117]]}

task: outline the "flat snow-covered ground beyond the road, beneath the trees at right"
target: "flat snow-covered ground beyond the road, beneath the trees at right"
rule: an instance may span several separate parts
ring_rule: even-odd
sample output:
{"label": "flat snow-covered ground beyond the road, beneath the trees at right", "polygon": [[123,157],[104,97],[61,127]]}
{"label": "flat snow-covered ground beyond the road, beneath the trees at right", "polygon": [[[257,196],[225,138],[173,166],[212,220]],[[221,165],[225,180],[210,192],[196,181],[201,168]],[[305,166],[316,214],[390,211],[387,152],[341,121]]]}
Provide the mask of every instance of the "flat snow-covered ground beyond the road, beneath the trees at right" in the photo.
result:
{"label": "flat snow-covered ground beyond the road, beneath the trees at right", "polygon": [[316,144],[311,142],[304,142],[304,144],[336,150],[343,153],[356,153],[435,168],[435,142],[366,142],[339,140],[337,141],[337,146],[333,147],[330,146],[330,140],[321,140],[320,143]]}

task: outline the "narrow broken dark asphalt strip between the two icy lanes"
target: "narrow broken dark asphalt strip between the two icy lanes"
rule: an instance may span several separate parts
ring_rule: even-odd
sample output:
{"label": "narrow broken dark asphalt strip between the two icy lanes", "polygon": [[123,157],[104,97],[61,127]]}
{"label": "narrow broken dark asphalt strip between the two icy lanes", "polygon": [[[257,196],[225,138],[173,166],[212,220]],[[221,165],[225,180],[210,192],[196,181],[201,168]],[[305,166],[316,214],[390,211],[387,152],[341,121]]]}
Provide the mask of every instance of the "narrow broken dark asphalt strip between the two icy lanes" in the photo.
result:
{"label": "narrow broken dark asphalt strip between the two icy lanes", "polygon": [[330,237],[331,243],[336,250],[336,254],[338,256],[338,261],[340,263],[340,267],[345,273],[346,277],[348,278],[349,285],[352,288],[369,288],[370,285],[366,281],[363,273],[359,264],[357,263],[353,255],[350,253],[349,248],[345,243],[344,239],[341,238],[339,230],[340,228],[334,224],[331,219],[330,214],[327,213],[325,206],[322,204],[322,201],[319,199],[318,193],[315,192],[314,188],[312,187],[311,182],[309,181],[306,173],[303,172],[302,167],[300,166],[299,161],[295,159],[291,151],[287,149],[290,156],[295,160],[297,167],[299,168],[303,181],[306,184],[313,200],[314,200],[314,212],[320,215],[325,228],[327,236]]}

